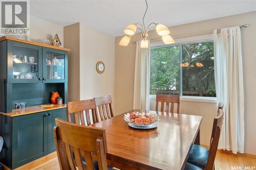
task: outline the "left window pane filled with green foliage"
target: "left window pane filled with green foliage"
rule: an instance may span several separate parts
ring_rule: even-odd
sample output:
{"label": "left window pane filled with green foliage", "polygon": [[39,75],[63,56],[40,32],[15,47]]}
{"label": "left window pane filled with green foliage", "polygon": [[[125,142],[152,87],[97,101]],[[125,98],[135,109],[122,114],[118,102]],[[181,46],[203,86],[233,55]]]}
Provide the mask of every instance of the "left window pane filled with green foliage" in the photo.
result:
{"label": "left window pane filled with green foliage", "polygon": [[150,94],[180,93],[180,46],[151,48]]}

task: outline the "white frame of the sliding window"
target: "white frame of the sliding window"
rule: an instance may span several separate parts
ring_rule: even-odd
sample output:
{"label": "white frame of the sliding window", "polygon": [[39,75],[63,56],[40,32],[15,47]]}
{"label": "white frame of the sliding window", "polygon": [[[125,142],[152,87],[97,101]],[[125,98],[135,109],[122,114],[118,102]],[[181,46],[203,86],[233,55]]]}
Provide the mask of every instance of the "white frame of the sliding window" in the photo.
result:
{"label": "white frame of the sliding window", "polygon": [[[177,39],[176,43],[173,44],[162,44],[162,43],[152,43],[151,49],[161,48],[161,47],[172,47],[172,46],[180,46],[180,63],[182,63],[182,45],[195,44],[195,43],[203,43],[203,42],[212,42],[214,41],[213,35],[199,36],[199,37],[190,37]],[[181,101],[189,101],[189,102],[206,102],[206,103],[216,103],[216,97],[203,97],[203,96],[186,96],[182,95],[182,67],[180,66],[180,100]],[[150,99],[156,99],[156,95],[149,96]]]}

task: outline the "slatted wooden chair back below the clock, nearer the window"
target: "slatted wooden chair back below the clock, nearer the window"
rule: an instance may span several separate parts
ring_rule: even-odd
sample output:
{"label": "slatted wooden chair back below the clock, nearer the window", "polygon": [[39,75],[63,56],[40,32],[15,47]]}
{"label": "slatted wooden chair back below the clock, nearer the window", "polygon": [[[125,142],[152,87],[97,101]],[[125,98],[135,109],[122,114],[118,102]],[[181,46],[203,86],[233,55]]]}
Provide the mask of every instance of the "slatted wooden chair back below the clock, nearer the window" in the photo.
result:
{"label": "slatted wooden chair back below the clock, nearer the window", "polygon": [[94,100],[98,122],[114,116],[111,95],[94,98]]}

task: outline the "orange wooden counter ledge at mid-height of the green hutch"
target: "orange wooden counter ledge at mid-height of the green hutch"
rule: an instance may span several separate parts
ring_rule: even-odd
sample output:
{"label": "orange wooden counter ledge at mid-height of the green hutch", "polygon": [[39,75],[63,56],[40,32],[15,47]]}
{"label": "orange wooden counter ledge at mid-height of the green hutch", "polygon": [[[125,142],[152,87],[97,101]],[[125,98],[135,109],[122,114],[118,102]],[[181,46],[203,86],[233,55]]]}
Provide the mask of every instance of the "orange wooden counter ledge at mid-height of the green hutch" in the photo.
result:
{"label": "orange wooden counter ledge at mid-height of the green hutch", "polygon": [[44,112],[44,111],[49,111],[49,110],[55,110],[55,109],[61,109],[61,108],[66,108],[66,105],[54,105],[53,107],[40,107],[40,106],[30,106],[24,109],[13,109],[11,113],[3,113],[0,112],[0,114],[14,117],[14,116],[20,116],[20,115],[25,115],[25,114],[31,114],[31,113],[37,113],[37,112]]}

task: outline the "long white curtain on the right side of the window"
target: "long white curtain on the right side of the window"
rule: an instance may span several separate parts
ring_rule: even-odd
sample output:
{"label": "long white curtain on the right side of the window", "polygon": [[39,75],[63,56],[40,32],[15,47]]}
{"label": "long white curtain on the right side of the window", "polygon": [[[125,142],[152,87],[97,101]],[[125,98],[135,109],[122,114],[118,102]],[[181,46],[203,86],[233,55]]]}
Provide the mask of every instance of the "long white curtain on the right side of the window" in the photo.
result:
{"label": "long white curtain on the right side of the window", "polygon": [[224,104],[219,149],[244,153],[244,86],[240,27],[214,31],[215,84]]}

